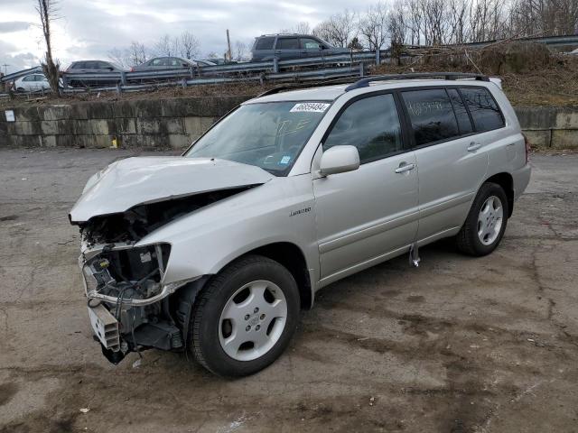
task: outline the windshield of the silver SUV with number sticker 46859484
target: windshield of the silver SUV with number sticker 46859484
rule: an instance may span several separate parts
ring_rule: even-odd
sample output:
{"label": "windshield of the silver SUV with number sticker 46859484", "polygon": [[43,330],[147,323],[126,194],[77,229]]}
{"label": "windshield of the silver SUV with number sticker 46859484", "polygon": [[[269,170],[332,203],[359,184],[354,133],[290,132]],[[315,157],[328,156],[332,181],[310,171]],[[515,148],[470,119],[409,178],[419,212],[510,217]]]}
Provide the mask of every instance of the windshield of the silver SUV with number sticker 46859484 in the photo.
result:
{"label": "windshield of the silver SUV with number sticker 46859484", "polygon": [[194,143],[190,158],[219,158],[286,175],[329,102],[270,102],[240,106]]}

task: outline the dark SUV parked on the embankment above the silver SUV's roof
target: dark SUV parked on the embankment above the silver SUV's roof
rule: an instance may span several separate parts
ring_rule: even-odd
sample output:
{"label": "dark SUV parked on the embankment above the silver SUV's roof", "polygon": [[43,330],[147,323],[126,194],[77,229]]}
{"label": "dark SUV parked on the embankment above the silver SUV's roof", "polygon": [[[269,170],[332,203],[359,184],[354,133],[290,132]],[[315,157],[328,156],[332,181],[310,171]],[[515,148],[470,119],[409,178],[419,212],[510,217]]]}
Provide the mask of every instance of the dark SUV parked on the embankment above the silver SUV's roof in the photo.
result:
{"label": "dark SUV parked on the embankment above the silver SUV's roof", "polygon": [[309,34],[268,34],[255,38],[251,49],[252,61],[299,59],[323,54],[342,54],[347,48],[335,48]]}

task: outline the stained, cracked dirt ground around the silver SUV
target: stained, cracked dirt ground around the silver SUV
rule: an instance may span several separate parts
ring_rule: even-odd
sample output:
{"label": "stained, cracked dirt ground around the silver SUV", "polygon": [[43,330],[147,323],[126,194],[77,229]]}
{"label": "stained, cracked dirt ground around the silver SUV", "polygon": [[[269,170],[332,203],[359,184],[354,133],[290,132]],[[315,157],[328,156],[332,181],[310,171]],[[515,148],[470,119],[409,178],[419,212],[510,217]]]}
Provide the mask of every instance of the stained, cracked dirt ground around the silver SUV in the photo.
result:
{"label": "stained, cracked dirt ground around the silver SUV", "polygon": [[128,154],[0,151],[0,432],[578,431],[578,155],[534,156],[495,253],[442,242],[334,283],[232,381],[92,340],[67,212]]}

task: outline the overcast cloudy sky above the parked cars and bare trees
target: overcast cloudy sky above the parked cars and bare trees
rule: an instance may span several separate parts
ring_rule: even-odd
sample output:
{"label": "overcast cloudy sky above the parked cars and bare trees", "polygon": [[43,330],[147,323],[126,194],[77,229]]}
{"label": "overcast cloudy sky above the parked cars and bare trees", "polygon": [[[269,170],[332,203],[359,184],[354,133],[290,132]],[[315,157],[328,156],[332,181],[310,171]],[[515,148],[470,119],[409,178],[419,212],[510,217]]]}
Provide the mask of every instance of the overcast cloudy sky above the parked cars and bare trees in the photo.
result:
{"label": "overcast cloudy sky above the parked cars and bare trees", "polygon": [[[8,72],[36,66],[44,51],[34,0],[0,0],[0,67]],[[372,1],[354,2],[365,10]],[[231,42],[251,44],[259,34],[290,29],[306,21],[312,26],[351,9],[348,0],[60,0],[54,23],[53,53],[63,67],[72,60],[107,60],[107,52],[131,41],[154,45],[163,34],[194,33],[201,56],[226,51]]]}

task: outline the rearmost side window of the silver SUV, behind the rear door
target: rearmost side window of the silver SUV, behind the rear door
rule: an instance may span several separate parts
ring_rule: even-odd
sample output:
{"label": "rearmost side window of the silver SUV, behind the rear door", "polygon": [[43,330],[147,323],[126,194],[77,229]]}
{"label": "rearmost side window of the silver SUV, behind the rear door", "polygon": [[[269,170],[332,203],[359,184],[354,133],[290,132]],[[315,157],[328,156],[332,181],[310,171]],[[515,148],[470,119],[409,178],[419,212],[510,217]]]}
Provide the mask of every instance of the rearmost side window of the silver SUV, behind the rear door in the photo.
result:
{"label": "rearmost side window of the silver SUV, behind the rear door", "polygon": [[487,88],[460,88],[460,91],[470,108],[477,132],[491,131],[505,125],[504,117]]}

